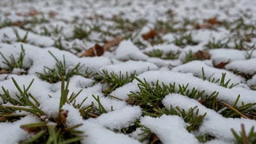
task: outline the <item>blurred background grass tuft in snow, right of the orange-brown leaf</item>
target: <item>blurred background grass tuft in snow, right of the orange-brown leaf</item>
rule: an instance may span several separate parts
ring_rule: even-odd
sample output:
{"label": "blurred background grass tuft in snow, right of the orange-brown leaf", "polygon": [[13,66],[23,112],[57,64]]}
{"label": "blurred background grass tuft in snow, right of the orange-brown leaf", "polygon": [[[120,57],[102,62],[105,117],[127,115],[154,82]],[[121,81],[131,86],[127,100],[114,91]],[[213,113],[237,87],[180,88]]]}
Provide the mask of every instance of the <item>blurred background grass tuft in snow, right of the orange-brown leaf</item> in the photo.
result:
{"label": "blurred background grass tuft in snow, right of the orange-brown leaf", "polygon": [[179,38],[175,37],[174,44],[179,47],[185,47],[187,45],[197,45],[199,44],[199,41],[193,40],[192,33],[183,34]]}

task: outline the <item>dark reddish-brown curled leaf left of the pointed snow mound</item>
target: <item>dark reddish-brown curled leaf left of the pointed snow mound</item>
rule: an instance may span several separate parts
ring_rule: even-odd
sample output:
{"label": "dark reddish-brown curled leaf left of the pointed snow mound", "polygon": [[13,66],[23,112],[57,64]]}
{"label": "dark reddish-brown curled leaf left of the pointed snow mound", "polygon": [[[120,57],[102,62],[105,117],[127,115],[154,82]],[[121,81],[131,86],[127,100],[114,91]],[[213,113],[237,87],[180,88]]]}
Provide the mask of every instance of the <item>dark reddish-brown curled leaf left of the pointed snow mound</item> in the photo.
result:
{"label": "dark reddish-brown curled leaf left of the pointed snow mound", "polygon": [[101,47],[99,44],[95,44],[94,47],[89,48],[80,57],[95,57],[95,56],[103,55],[103,53],[104,53],[104,47]]}

